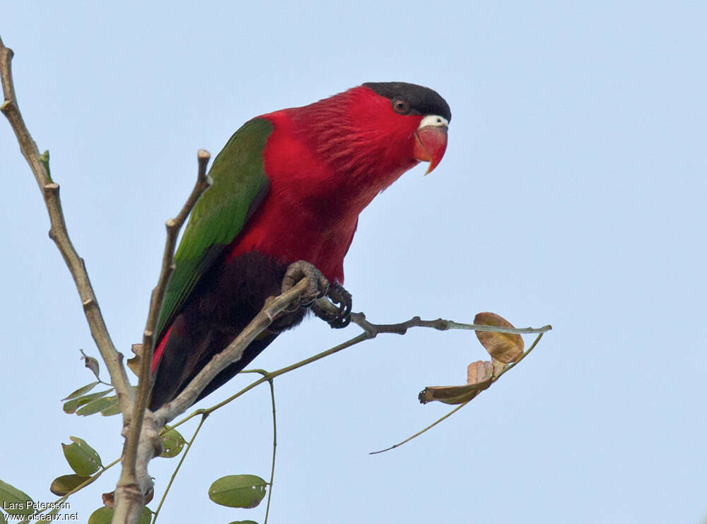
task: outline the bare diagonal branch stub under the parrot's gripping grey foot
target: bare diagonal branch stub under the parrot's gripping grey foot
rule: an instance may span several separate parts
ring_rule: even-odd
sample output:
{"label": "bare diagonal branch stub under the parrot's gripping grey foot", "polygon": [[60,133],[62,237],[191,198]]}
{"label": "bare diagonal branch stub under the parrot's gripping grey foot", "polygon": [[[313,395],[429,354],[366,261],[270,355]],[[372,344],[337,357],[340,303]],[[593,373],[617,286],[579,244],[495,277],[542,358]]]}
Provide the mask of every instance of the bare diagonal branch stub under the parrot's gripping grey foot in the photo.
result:
{"label": "bare diagonal branch stub under the parrot's gripping grey foot", "polygon": [[240,332],[232,343],[225,350],[218,353],[211,359],[209,364],[199,371],[199,374],[189,383],[177,398],[163,405],[155,412],[155,417],[160,426],[181,415],[187,408],[197,400],[199,393],[214,379],[223,369],[237,362],[243,355],[245,348],[259,335],[273,319],[284,311],[294,300],[300,297],[307,289],[307,279],[300,280],[295,287],[285,292],[279,297],[265,303],[264,308],[250,321],[246,328]]}

